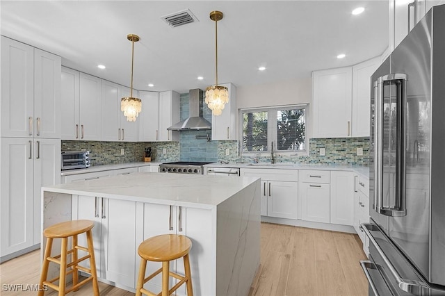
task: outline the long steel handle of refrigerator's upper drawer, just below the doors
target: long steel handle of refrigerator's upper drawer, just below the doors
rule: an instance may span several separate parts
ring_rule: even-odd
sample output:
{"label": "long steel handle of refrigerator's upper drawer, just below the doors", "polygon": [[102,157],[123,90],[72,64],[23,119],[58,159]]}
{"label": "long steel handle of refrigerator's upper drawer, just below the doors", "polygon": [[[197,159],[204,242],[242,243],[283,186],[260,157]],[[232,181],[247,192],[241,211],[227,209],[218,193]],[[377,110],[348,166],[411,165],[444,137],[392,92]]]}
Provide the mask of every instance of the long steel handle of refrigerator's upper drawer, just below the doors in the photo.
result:
{"label": "long steel handle of refrigerator's upper drawer, just below the doors", "polygon": [[391,263],[385,252],[383,252],[382,248],[380,248],[378,243],[375,241],[375,238],[371,234],[371,231],[380,231],[380,233],[382,233],[382,236],[386,238],[385,233],[383,233],[377,225],[372,223],[362,223],[360,224],[360,229],[364,231],[366,236],[369,238],[369,242],[375,247],[380,257],[382,257],[385,265],[387,265],[389,272],[394,277],[394,279],[396,279],[398,288],[414,295],[429,295],[426,294],[426,291],[430,291],[432,290],[432,288],[426,286],[425,283],[422,283],[420,281],[413,281],[410,279],[402,279],[401,275],[398,273],[394,265]]}

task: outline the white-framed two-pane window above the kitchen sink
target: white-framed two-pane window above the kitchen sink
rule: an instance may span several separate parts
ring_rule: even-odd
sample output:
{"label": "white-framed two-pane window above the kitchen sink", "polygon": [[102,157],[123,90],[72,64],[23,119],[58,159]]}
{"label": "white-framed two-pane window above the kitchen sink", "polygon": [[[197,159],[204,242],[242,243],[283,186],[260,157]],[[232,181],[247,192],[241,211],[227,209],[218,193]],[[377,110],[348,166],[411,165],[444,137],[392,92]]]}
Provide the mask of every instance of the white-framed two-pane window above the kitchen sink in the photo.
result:
{"label": "white-framed two-pane window above the kitchen sink", "polygon": [[306,150],[306,105],[241,110],[243,152]]}

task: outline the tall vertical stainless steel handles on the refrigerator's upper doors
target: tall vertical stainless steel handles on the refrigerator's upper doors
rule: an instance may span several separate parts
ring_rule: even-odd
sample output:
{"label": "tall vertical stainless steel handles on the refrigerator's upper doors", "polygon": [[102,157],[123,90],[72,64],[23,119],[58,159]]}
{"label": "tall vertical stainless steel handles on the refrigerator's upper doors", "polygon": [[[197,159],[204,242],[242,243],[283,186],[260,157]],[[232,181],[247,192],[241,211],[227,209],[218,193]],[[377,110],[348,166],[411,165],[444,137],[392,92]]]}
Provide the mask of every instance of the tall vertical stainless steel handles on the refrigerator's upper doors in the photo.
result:
{"label": "tall vertical stainless steel handles on the refrigerator's upper doors", "polygon": [[[374,135],[375,135],[375,147],[374,147],[374,202],[373,208],[377,213],[392,217],[402,217],[406,215],[406,202],[405,202],[405,106],[406,106],[406,81],[407,75],[394,73],[381,76],[373,83],[374,97],[375,97],[375,117],[374,117]],[[395,83],[397,85],[397,99],[398,99],[398,120],[399,125],[403,127],[398,132],[398,154],[397,154],[397,167],[396,167],[396,204],[394,207],[383,206],[383,119],[384,119],[384,87]]]}

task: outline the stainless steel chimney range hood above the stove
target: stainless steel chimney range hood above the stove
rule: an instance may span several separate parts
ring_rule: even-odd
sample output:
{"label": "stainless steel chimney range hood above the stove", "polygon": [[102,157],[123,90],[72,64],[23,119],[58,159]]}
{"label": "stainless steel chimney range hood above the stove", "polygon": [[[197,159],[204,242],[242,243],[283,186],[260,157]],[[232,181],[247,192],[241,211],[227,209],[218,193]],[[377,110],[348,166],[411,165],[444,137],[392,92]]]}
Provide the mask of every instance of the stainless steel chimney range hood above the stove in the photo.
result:
{"label": "stainless steel chimney range hood above the stove", "polygon": [[211,129],[211,123],[202,117],[202,103],[204,101],[204,91],[199,88],[189,90],[188,118],[173,124],[168,128],[169,131],[191,131],[200,129]]}

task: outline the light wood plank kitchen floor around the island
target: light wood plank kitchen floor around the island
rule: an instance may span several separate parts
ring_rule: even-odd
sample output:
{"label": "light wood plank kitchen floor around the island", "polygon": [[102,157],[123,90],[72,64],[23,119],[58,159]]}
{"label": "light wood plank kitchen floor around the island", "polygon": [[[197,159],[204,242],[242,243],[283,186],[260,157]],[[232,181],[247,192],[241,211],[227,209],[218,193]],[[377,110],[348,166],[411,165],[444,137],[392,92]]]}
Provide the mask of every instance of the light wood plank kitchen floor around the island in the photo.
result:
{"label": "light wood plank kitchen floor around the island", "polygon": [[[359,261],[366,256],[357,235],[278,224],[261,223],[261,266],[252,295],[368,295],[368,283]],[[5,291],[3,285],[36,284],[40,251],[0,265],[0,295],[35,295],[32,291]],[[99,282],[100,295],[134,295]],[[56,295],[51,289],[45,295]],[[90,296],[90,284],[74,296]],[[200,296],[200,295],[197,295]],[[209,295],[210,296],[210,295]]]}

